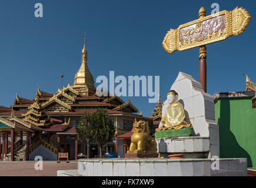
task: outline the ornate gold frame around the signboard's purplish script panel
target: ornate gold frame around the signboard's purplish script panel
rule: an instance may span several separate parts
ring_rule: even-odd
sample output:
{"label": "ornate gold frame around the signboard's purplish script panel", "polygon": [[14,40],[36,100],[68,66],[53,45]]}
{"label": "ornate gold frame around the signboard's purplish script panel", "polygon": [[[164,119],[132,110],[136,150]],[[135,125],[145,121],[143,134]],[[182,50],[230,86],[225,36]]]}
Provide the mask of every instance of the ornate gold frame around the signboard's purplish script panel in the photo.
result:
{"label": "ornate gold frame around the signboard's purplish script panel", "polygon": [[[223,31],[208,33],[205,37],[201,35],[199,38],[192,38],[180,42],[180,29],[190,25],[200,24],[207,19],[225,15],[225,29]],[[224,41],[228,37],[240,35],[249,25],[251,16],[244,8],[235,8],[233,11],[221,11],[216,14],[205,16],[187,24],[180,25],[177,29],[171,29],[165,35],[162,46],[168,53],[174,51],[185,51],[187,49],[208,45],[210,43]]]}

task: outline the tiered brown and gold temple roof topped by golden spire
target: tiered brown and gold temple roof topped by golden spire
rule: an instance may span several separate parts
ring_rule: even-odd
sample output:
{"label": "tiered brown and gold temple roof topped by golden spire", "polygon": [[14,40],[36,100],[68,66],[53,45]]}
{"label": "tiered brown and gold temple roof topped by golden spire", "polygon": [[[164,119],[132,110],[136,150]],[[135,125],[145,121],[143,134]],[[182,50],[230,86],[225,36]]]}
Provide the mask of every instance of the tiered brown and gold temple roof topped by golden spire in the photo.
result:
{"label": "tiered brown and gold temple roof topped by golden spire", "polygon": [[[85,112],[94,113],[97,109],[106,109],[109,115],[142,117],[142,113],[138,113],[138,109],[132,105],[130,99],[124,102],[116,95],[97,96],[94,78],[88,68],[84,40],[81,66],[75,75],[74,85],[68,84],[54,94],[38,88],[34,100],[16,95],[11,108],[0,106],[0,116],[15,116],[29,125],[39,126],[46,131],[50,129],[64,131],[69,126],[63,125],[69,125],[69,123],[62,123],[62,120],[58,120],[59,116],[81,116]],[[55,119],[52,118],[53,116]]]}

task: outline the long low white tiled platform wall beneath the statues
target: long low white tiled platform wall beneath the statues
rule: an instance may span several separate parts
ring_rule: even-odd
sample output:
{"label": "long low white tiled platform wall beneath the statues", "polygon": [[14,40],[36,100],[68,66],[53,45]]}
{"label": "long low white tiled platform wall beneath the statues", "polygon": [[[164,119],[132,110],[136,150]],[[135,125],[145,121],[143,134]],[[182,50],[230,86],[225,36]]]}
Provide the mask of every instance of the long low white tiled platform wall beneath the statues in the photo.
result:
{"label": "long low white tiled platform wall beneath the statues", "polygon": [[81,159],[78,169],[58,176],[247,176],[247,159]]}

